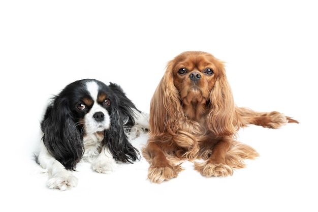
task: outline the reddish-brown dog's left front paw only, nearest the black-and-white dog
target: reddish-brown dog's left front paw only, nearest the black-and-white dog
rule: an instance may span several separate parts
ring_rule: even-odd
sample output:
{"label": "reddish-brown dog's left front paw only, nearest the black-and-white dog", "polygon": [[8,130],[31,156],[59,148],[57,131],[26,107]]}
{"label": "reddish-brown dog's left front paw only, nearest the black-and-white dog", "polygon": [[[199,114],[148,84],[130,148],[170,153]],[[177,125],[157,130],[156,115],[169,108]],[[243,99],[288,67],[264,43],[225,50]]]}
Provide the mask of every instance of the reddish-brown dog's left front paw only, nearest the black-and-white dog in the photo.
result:
{"label": "reddish-brown dog's left front paw only, nearest the black-and-white dog", "polygon": [[148,170],[148,178],[150,179],[151,183],[160,184],[164,180],[177,177],[180,171],[182,171],[181,164],[166,167],[150,167]]}

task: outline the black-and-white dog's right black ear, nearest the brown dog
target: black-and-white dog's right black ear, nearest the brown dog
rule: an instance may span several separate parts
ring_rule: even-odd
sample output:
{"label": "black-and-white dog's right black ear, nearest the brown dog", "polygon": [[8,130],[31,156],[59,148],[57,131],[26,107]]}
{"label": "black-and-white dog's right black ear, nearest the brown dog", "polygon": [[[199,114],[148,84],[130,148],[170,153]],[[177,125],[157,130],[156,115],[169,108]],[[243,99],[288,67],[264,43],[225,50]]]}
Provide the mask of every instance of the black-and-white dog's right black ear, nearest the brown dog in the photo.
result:
{"label": "black-and-white dog's right black ear, nearest the brown dog", "polygon": [[[137,110],[133,102],[126,97],[120,86],[110,83],[112,94],[110,103],[110,127],[105,130],[104,144],[106,144],[116,161],[133,163],[140,159],[140,153],[125,134],[125,129],[135,124]],[[137,110],[138,111],[138,110]]]}

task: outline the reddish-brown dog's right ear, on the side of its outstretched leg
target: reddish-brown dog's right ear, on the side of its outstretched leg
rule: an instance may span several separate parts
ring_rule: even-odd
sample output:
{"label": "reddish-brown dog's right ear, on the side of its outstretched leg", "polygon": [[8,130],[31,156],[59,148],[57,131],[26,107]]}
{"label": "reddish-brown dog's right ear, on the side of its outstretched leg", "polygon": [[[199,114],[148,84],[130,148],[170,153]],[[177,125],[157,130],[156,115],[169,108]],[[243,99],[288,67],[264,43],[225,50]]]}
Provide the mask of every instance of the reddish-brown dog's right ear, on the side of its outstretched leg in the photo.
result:
{"label": "reddish-brown dog's right ear, on the side of its outstretched leg", "polygon": [[210,111],[207,115],[207,127],[216,136],[234,135],[235,112],[234,99],[222,64],[218,67],[215,84],[210,92]]}

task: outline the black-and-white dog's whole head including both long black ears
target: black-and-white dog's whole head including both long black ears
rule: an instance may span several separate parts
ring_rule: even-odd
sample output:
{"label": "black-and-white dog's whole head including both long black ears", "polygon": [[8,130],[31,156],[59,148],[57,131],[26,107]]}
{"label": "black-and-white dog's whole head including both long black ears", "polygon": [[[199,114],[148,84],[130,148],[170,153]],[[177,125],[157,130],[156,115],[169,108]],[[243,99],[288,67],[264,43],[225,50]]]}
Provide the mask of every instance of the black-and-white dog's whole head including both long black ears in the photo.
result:
{"label": "black-and-white dog's whole head including both long black ears", "polygon": [[41,123],[43,142],[67,169],[74,169],[84,152],[83,137],[108,145],[115,160],[135,161],[138,151],[125,135],[134,125],[135,105],[114,84],[83,79],[54,96]]}

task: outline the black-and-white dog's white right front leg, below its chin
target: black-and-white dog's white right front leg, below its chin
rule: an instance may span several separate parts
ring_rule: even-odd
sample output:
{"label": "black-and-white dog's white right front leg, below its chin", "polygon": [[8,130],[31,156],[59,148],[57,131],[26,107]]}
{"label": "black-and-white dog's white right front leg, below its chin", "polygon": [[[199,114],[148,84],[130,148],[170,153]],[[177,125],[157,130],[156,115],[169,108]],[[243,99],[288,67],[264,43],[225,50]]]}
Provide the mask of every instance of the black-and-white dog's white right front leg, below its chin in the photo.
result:
{"label": "black-and-white dog's white right front leg, below its chin", "polygon": [[106,145],[103,146],[101,153],[92,163],[92,169],[100,173],[111,173],[117,168],[116,161],[113,159]]}

